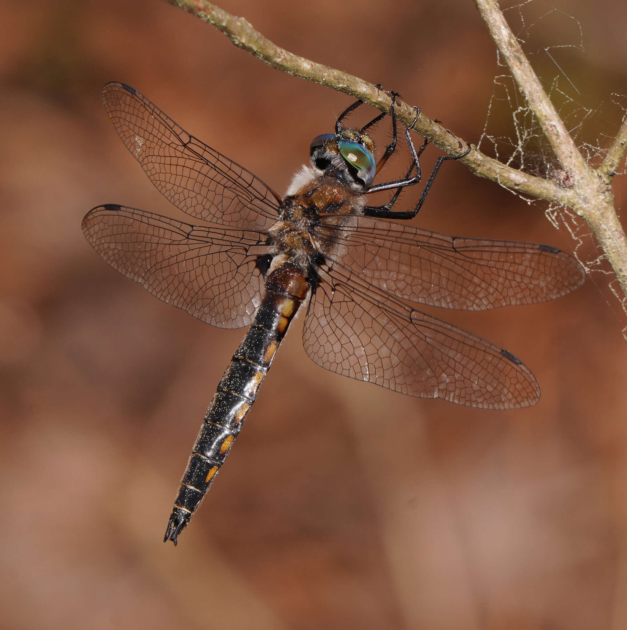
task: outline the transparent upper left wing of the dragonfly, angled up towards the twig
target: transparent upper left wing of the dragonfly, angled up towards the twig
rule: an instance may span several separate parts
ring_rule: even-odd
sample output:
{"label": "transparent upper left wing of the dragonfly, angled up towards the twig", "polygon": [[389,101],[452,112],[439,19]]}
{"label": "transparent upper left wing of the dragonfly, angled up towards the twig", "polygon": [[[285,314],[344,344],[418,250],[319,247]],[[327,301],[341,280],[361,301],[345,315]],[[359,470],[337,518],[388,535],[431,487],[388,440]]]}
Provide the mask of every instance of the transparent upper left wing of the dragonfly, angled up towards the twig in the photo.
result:
{"label": "transparent upper left wing of the dragonfly, angled up towards the twig", "polygon": [[178,209],[244,229],[265,229],[277,220],[277,193],[188,134],[137,90],[107,83],[102,101],[127,149]]}

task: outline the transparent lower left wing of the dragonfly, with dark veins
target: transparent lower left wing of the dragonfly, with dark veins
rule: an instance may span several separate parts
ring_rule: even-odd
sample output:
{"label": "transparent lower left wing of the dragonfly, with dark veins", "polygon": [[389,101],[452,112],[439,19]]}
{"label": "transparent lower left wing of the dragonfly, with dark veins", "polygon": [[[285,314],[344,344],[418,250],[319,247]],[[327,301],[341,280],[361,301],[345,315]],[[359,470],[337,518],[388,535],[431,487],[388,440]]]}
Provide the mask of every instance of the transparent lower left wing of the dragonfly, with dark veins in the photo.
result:
{"label": "transparent lower left wing of the dragonfly, with dark veins", "polygon": [[160,300],[219,328],[253,320],[263,285],[256,260],[267,253],[262,234],[112,204],[90,210],[83,232],[113,268]]}

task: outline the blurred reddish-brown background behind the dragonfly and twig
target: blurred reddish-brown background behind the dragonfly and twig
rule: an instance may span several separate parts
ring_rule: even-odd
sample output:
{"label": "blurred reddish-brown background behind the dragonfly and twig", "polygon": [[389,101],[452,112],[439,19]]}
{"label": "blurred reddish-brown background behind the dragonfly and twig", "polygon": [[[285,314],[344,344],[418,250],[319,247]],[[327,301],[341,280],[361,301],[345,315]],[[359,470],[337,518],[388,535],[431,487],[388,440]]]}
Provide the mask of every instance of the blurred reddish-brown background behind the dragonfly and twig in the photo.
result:
{"label": "blurred reddish-brown background behind the dragonfly and twig", "polygon": [[[222,6],[478,141],[502,69],[470,0]],[[172,214],[108,122],[101,86],[135,86],[279,191],[351,100],[157,0],[0,7],[0,627],[627,627],[627,343],[600,274],[548,304],[439,313],[531,367],[543,397],[521,411],[325,372],[297,321],[192,525],[164,545],[243,331],[159,302],[83,238],[101,203]],[[572,126],[590,110],[580,142],[607,146],[622,115],[612,94],[627,94],[627,5],[520,11],[544,83],[559,77],[575,99]],[[585,50],[553,48],[551,60],[544,49],[578,45],[579,26]],[[495,101],[488,132],[512,135],[509,117]],[[415,224],[575,248],[542,205],[456,163]],[[285,391],[294,377],[301,387]]]}

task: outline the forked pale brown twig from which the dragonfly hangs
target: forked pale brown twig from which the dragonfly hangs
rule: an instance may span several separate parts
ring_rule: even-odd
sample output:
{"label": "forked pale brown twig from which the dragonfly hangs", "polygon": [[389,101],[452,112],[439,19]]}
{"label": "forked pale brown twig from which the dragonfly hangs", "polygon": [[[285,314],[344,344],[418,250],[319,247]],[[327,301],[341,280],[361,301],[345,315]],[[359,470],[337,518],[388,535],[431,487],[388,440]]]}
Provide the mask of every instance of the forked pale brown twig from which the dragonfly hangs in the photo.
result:
{"label": "forked pale brown twig from which the dragonfly hangs", "polygon": [[[359,98],[381,112],[389,112],[392,101],[388,93],[352,74],[317,64],[280,48],[263,37],[244,18],[236,18],[207,0],[165,1],[216,26],[234,45],[277,70]],[[574,181],[574,185],[567,188],[554,181],[529,175],[486,156],[475,147],[459,161],[466,164],[475,175],[495,181],[510,190],[575,210],[594,232],[618,277],[623,294],[627,295],[627,241],[614,212],[614,197],[609,188],[611,176],[618,169],[627,149],[627,125],[621,127],[621,132],[614,140],[599,170],[590,168],[544,92],[538,76],[507,25],[497,2],[475,0],[475,3],[515,81],[538,117],[553,151],[564,171],[568,173],[568,180]],[[415,109],[400,100],[396,101],[396,113],[398,120],[406,126],[410,125],[415,117]],[[420,113],[413,130],[451,156],[461,154],[467,147],[464,140],[423,113]]]}

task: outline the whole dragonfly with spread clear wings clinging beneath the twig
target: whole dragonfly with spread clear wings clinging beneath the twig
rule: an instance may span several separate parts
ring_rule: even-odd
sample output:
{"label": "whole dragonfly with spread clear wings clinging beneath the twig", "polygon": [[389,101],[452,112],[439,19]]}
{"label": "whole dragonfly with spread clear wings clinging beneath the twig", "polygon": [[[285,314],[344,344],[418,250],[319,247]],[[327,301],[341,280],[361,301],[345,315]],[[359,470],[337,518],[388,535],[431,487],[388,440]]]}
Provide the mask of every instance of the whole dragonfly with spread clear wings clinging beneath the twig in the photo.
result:
{"label": "whole dragonfly with spread clear wings clinging beneath the twig", "polygon": [[[193,222],[107,204],[83,232],[118,272],[164,302],[219,328],[248,331],[209,404],[181,479],[164,542],[178,536],[216,478],[297,312],[302,343],[321,367],[396,392],[485,409],[532,405],[538,381],[512,353],[435,318],[421,304],[482,310],[544,302],[577,289],[584,270],[542,244],[438,234],[389,219],[400,191],[420,181],[427,141],[405,138],[402,179],[374,183],[396,150],[375,156],[369,127],[316,137],[310,163],[280,197],[253,173],[188,134],[137,90],[108,83],[102,99],[146,175]],[[419,110],[417,110],[419,113]],[[417,117],[418,117],[417,113]],[[414,121],[415,122],[415,121]],[[394,191],[384,205],[371,193]]]}

